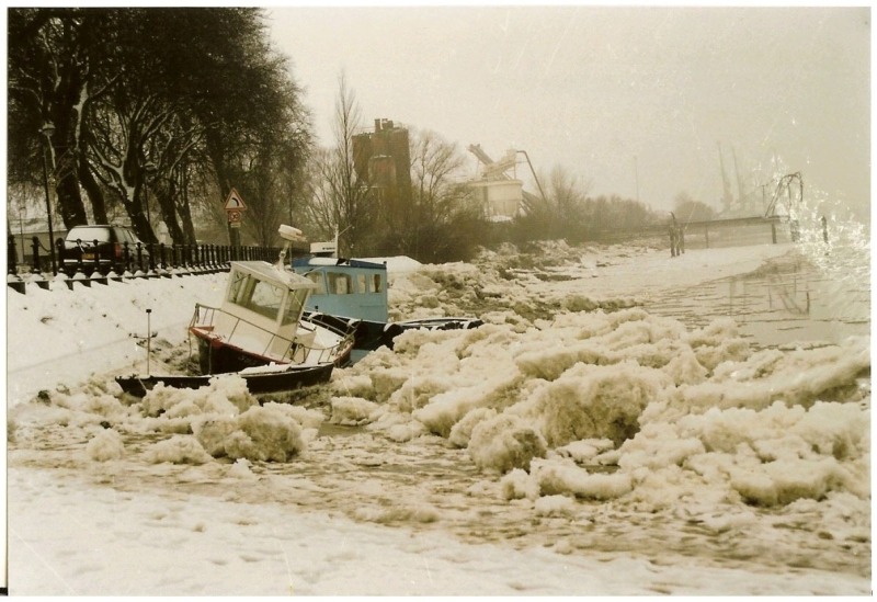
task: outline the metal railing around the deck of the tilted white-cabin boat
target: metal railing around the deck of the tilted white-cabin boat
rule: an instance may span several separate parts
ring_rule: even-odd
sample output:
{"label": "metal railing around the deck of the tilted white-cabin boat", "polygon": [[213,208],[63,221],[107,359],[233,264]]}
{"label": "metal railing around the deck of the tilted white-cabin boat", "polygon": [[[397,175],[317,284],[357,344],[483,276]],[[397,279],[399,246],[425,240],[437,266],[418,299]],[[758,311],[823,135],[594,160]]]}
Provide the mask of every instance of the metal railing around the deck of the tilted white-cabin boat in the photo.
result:
{"label": "metal railing around the deck of the tilted white-cabin boat", "polygon": [[[262,326],[251,322],[250,320],[229,314],[228,311],[225,311],[219,307],[213,307],[209,305],[203,305],[197,303],[195,304],[195,311],[192,315],[192,320],[189,322],[189,328],[191,329],[193,327],[198,327],[202,329],[213,329],[217,314],[221,314],[234,320],[234,326],[231,327],[231,331],[227,336],[223,337],[226,343],[236,344],[234,340],[235,333],[238,330],[238,326],[240,326],[240,323],[242,322],[250,328],[264,332],[267,336],[267,342],[265,343],[262,352],[259,353],[260,355],[271,356],[270,350],[272,345],[275,344],[275,341],[282,342],[285,352],[281,356],[276,356],[275,354],[277,361],[280,362],[304,363],[306,360],[308,360],[310,363],[310,361],[314,360],[314,357],[316,357],[316,360],[314,360],[316,363],[330,362],[338,355],[338,353],[342,349],[344,349],[348,345],[351,345],[353,341],[353,334],[354,334],[353,328],[351,328],[349,332],[343,332],[338,328],[323,326],[323,328],[341,337],[341,340],[338,343],[328,347],[307,344],[301,342],[300,340],[289,339],[288,337],[282,337],[276,332],[272,332],[271,330]],[[316,334],[317,327],[316,325],[310,327],[308,326],[307,322],[299,321],[298,330],[299,331],[305,330],[307,332],[314,332]],[[248,339],[247,342],[252,343],[252,339]],[[244,345],[238,345],[238,347],[244,347]],[[311,356],[311,354],[314,355]]]}

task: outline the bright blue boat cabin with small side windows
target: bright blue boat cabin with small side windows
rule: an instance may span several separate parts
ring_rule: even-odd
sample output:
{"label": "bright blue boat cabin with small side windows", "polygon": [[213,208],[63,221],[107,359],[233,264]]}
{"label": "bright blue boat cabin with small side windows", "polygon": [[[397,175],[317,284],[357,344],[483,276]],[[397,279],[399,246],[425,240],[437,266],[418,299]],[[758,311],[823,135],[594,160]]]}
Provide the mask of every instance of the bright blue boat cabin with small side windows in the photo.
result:
{"label": "bright blue boat cabin with small side windows", "polygon": [[332,257],[294,258],[292,269],[315,286],[305,302],[309,311],[386,322],[387,265]]}

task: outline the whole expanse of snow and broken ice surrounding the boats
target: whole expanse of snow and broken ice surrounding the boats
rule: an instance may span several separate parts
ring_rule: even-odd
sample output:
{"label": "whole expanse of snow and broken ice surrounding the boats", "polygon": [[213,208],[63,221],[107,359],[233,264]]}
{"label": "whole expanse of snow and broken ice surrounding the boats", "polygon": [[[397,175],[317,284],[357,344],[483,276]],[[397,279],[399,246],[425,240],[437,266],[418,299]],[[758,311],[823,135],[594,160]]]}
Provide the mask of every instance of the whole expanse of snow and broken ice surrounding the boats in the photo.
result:
{"label": "whole expanse of snow and broken ice surrounding the boats", "polygon": [[[9,292],[10,592],[867,594],[869,310],[847,302],[869,270],[847,247],[391,262],[398,317],[485,326],[261,405],[234,376],[113,382],[145,367],[147,308],[152,372],[182,368],[221,274]],[[834,340],[765,343],[778,310],[698,296],[790,257]]]}

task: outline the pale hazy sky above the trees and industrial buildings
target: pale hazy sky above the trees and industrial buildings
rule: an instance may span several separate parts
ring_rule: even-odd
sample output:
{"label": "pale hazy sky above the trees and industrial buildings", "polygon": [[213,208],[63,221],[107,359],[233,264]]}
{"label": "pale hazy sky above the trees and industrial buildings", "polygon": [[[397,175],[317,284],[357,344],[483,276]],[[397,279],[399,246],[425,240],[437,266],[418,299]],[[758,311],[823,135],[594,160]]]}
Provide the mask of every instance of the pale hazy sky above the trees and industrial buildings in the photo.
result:
{"label": "pale hazy sky above the trees and industrial buildings", "polygon": [[384,117],[431,129],[460,146],[472,172],[468,145],[493,159],[515,148],[540,175],[560,166],[591,194],[670,209],[685,191],[719,208],[720,144],[734,194],[732,150],[748,189],[800,171],[808,192],[869,205],[867,7],[281,4],[269,14],[322,144],[343,71],[364,126]]}

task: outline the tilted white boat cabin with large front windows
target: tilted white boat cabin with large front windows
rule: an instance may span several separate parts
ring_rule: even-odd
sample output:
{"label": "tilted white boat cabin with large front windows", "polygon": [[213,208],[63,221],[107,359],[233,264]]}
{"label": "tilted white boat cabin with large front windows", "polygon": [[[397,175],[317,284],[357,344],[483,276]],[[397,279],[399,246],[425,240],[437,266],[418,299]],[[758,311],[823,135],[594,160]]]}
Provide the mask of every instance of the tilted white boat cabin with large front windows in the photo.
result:
{"label": "tilted white boat cabin with large front windows", "polygon": [[235,261],[228,276],[221,311],[212,334],[265,357],[288,361],[291,342],[312,343],[299,332],[310,280],[262,261]]}

